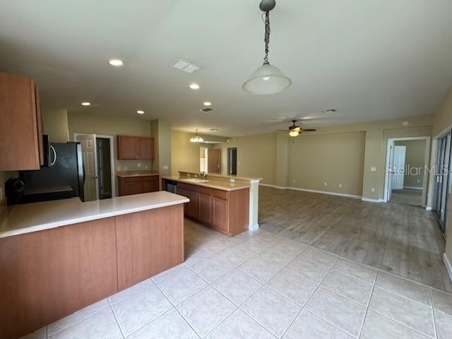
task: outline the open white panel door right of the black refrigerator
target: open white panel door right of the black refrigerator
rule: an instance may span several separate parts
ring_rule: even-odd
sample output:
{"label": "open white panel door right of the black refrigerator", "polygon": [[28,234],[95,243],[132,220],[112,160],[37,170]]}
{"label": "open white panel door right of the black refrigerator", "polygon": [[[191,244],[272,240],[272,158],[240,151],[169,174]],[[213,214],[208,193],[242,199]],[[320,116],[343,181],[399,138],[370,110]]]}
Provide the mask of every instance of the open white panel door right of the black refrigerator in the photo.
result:
{"label": "open white panel door right of the black refrigerator", "polygon": [[83,169],[85,169],[84,200],[97,200],[97,154],[96,135],[86,134],[77,136],[77,141],[82,145]]}

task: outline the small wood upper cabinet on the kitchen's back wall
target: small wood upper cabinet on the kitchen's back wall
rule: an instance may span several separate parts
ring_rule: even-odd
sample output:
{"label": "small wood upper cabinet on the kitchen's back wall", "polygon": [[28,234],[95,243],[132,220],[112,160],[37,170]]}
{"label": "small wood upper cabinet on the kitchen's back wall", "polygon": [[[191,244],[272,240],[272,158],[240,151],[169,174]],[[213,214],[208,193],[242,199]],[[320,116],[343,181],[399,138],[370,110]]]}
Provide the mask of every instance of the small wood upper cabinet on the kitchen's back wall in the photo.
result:
{"label": "small wood upper cabinet on the kitchen's back wall", "polygon": [[118,160],[152,160],[154,138],[118,136]]}

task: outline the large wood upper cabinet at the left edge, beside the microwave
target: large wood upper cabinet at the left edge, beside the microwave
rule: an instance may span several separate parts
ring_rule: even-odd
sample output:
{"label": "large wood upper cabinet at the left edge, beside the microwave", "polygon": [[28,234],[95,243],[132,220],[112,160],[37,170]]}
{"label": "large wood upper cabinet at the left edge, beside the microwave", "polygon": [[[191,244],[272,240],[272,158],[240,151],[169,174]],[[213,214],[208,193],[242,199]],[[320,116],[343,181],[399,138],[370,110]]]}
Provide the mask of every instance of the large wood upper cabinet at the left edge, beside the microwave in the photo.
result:
{"label": "large wood upper cabinet at the left edge, beside the microwave", "polygon": [[39,91],[33,79],[0,72],[0,171],[44,163]]}

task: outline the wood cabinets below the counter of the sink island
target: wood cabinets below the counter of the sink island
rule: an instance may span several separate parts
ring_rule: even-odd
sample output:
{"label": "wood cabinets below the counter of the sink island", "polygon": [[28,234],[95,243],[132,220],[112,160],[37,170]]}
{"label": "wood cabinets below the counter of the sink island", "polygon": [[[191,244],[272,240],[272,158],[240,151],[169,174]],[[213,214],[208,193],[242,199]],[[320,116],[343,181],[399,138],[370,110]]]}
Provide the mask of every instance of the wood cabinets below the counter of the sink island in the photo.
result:
{"label": "wood cabinets below the counter of the sink island", "polygon": [[[165,188],[165,180],[163,181]],[[177,183],[177,194],[190,199],[185,204],[186,217],[234,237],[248,230],[249,188],[236,191]]]}

